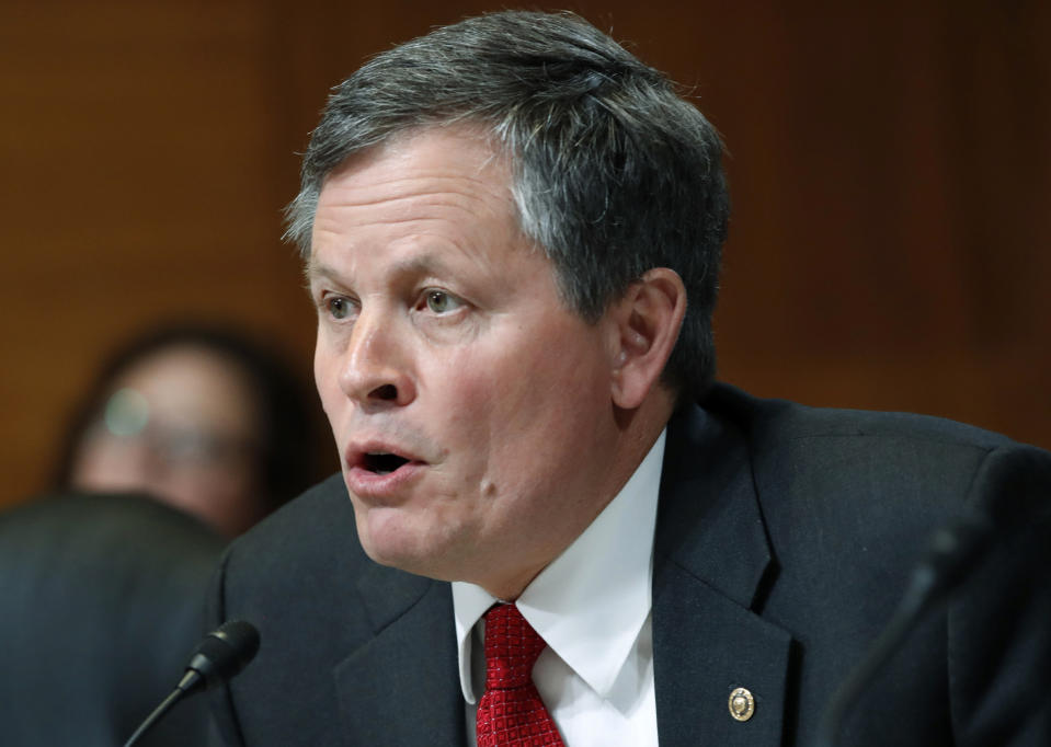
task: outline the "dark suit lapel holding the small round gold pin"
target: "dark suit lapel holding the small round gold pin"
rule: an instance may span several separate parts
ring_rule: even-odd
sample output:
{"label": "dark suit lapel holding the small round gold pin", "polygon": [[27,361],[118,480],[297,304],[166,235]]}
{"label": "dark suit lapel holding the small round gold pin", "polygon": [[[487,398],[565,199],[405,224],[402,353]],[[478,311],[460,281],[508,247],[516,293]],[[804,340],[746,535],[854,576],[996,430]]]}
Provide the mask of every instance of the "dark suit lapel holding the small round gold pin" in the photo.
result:
{"label": "dark suit lapel holding the small round gold pin", "polygon": [[[653,666],[666,745],[781,744],[791,636],[753,607],[772,571],[746,444],[692,409],[669,426],[654,544]],[[754,699],[734,720],[736,688]]]}

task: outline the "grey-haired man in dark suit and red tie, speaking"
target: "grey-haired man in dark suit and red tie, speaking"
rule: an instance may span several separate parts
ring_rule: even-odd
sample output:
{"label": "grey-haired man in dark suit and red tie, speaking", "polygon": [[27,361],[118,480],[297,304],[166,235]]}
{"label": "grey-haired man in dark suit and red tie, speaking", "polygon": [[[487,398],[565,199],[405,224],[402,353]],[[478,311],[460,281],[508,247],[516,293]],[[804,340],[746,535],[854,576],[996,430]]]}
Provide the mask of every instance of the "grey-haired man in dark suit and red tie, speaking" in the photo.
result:
{"label": "grey-haired man in dark suit and red tie, speaking", "polygon": [[[1048,455],[993,434],[711,384],[720,156],[570,15],[439,28],[336,90],[289,235],[342,478],[217,576],[214,622],[263,641],[227,744],[807,744],[929,531],[1047,489]],[[993,560],[849,744],[966,744],[1036,681],[1047,597]]]}

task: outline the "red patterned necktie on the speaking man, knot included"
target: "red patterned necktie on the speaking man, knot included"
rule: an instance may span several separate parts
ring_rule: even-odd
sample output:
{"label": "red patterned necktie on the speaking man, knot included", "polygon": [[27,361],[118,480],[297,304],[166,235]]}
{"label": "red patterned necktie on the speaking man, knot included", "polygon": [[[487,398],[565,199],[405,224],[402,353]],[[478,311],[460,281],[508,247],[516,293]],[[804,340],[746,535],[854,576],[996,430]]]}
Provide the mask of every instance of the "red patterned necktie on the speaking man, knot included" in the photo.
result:
{"label": "red patterned necktie on the speaking man, knot included", "polygon": [[533,683],[533,665],[546,645],[514,605],[485,613],[485,694],[478,703],[478,747],[562,747]]}

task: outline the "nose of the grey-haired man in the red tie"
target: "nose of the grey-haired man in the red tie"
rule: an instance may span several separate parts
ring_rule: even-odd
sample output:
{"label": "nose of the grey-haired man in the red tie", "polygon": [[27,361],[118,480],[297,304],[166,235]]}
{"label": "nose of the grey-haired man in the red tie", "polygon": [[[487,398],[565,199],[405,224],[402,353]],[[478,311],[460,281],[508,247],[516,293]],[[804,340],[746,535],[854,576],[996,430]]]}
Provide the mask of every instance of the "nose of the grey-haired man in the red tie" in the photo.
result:
{"label": "nose of the grey-haired man in the red tie", "polygon": [[363,310],[340,364],[340,388],[366,410],[404,406],[415,398],[408,333],[379,312]]}

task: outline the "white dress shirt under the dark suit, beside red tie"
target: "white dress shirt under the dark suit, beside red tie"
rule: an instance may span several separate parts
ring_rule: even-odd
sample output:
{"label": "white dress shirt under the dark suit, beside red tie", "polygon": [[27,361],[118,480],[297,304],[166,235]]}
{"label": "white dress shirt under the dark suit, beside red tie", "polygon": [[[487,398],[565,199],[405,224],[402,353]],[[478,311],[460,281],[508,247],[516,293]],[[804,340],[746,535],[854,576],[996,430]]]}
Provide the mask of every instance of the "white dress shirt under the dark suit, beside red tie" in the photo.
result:
{"label": "white dress shirt under the dark suit, beside red tie", "polygon": [[[664,438],[515,601],[548,644],[533,681],[567,747],[658,744],[650,606]],[[480,586],[453,583],[470,745],[485,683],[481,616],[498,601]]]}

